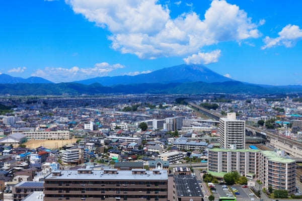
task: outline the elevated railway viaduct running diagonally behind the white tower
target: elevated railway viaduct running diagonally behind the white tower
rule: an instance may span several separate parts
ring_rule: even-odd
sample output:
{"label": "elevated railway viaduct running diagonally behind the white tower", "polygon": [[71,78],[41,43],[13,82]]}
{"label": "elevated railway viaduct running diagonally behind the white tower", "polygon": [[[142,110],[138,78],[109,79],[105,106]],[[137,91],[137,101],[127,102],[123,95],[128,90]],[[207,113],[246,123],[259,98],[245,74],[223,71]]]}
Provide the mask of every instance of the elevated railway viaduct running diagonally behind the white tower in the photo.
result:
{"label": "elevated railway viaduct running diagonally behind the white tower", "polygon": [[[204,109],[193,103],[188,103],[188,105],[197,110],[198,112],[215,120],[219,120],[219,118],[221,117],[220,114]],[[276,149],[284,150],[290,156],[302,158],[302,142],[292,140],[277,133],[272,133],[270,131],[262,130],[250,125],[246,125],[246,130],[252,132],[254,135],[258,134],[259,136],[265,138],[270,143],[270,145],[275,147]]]}

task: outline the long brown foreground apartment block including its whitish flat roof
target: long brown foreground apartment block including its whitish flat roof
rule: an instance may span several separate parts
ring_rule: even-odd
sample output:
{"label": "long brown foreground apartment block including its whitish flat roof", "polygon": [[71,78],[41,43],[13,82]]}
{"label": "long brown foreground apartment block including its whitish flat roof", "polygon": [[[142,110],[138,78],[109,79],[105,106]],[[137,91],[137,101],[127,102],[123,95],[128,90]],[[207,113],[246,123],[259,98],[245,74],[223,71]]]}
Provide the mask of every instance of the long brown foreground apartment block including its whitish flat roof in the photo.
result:
{"label": "long brown foreground apartment block including its whitish flat roof", "polygon": [[167,170],[78,169],[53,171],[44,178],[44,201],[167,201]]}

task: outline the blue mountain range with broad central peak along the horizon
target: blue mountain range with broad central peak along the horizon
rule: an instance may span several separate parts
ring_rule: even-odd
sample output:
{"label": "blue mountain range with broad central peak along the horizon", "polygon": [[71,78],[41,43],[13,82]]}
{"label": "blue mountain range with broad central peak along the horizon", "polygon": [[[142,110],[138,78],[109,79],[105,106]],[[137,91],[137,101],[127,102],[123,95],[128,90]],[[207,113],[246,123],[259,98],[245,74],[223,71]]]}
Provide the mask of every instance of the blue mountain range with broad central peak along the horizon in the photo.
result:
{"label": "blue mountain range with broad central peak along the horizon", "polygon": [[135,76],[95,77],[52,83],[41,77],[0,75],[0,94],[60,95],[104,93],[276,93],[302,92],[300,85],[271,86],[235,81],[202,65],[178,65]]}

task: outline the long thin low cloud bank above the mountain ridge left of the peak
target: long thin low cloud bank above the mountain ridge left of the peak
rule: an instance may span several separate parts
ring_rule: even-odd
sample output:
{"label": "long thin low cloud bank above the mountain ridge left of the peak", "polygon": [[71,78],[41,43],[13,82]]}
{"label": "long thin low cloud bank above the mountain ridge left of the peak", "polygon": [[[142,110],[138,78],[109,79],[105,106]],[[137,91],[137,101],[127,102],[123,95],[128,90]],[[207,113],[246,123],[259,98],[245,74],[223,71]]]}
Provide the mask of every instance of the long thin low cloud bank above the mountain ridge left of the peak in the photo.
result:
{"label": "long thin low cloud bank above the mountain ridge left of the peak", "polygon": [[37,69],[32,76],[43,77],[53,82],[69,82],[97,76],[106,76],[109,72],[118,68],[124,68],[124,66],[121,64],[110,65],[103,62],[96,63],[94,67],[89,68],[80,68],[78,66],[71,68],[45,67],[44,69]]}

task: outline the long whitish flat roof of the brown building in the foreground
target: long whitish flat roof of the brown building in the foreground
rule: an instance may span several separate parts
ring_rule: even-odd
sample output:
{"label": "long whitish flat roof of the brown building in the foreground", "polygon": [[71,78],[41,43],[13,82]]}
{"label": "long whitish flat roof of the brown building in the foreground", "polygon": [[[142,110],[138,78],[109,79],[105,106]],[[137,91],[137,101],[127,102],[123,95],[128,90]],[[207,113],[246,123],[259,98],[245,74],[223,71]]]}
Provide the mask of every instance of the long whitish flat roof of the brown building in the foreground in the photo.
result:
{"label": "long whitish flat roof of the brown building in the foreground", "polygon": [[50,173],[45,179],[51,180],[168,180],[167,170],[159,170],[160,174],[146,171],[146,174],[132,174],[132,171],[117,171],[117,174],[104,173],[103,170],[93,170],[93,173],[78,173],[77,170],[61,170],[61,176]]}

